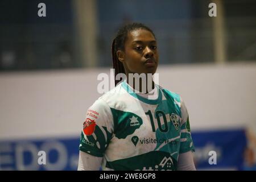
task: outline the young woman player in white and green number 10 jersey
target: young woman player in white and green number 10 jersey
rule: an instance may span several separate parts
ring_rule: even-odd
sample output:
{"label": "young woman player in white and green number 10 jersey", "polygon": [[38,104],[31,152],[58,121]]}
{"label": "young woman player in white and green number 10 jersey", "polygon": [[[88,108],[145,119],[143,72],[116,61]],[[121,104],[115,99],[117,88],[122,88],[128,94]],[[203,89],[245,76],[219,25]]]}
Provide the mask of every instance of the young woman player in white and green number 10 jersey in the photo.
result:
{"label": "young woman player in white and green number 10 jersey", "polygon": [[78,169],[195,170],[188,113],[179,94],[163,89],[150,76],[146,93],[142,79],[137,87],[130,84],[129,73],[156,72],[158,49],[152,30],[141,23],[122,27],[112,56],[115,76],[125,73],[127,78],[119,85],[116,81],[113,90],[89,107]]}

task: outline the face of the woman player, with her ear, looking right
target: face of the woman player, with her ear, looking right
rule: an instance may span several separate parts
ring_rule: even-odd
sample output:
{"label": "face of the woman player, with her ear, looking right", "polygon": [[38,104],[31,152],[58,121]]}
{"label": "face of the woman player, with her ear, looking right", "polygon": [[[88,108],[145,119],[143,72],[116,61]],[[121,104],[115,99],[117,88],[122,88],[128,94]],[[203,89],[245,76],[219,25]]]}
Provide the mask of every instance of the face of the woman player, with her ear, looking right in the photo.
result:
{"label": "face of the woman player, with her ear, looking right", "polygon": [[137,29],[130,31],[125,42],[125,51],[117,51],[126,73],[151,73],[158,67],[156,40],[150,31]]}

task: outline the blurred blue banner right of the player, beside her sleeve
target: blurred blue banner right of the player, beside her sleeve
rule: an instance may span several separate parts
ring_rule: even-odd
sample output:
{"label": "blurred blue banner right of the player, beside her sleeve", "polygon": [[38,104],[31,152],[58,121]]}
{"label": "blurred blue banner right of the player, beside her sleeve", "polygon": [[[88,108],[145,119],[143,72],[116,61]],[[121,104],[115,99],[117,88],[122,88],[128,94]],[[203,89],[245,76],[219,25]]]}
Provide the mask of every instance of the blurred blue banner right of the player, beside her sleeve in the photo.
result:
{"label": "blurred blue banner right of the player, beside her sleeve", "polygon": [[[197,169],[243,169],[243,154],[246,148],[244,130],[193,132],[192,138],[196,147],[194,160]],[[216,155],[215,163],[213,163],[214,155]]]}

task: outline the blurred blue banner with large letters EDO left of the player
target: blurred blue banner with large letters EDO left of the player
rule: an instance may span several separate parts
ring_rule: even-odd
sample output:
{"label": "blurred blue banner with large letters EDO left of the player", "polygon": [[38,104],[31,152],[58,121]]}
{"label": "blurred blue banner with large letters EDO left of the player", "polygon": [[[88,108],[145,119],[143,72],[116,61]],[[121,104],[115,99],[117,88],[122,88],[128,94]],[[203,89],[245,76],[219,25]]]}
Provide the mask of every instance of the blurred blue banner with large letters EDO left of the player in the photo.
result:
{"label": "blurred blue banner with large letters EDO left of the player", "polygon": [[77,170],[79,138],[0,142],[0,170]]}

